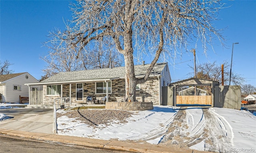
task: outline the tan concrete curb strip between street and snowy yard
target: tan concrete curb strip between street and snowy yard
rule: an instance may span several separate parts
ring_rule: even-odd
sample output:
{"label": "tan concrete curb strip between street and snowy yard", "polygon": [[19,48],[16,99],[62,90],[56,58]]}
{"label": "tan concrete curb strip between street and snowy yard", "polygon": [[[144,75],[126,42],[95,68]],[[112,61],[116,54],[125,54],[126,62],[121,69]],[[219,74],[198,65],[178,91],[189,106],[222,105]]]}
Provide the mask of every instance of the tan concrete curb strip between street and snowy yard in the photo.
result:
{"label": "tan concrete curb strip between street and snowy yard", "polygon": [[207,151],[196,151],[192,149],[179,149],[172,147],[162,147],[158,145],[127,143],[124,141],[108,141],[100,139],[90,139],[84,137],[72,137],[67,135],[36,133],[28,131],[18,131],[11,129],[0,129],[2,135],[12,135],[16,137],[24,137],[27,139],[38,139],[46,141],[54,141],[61,143],[76,144],[90,148],[99,148],[104,150],[131,151],[138,153],[210,153]]}

